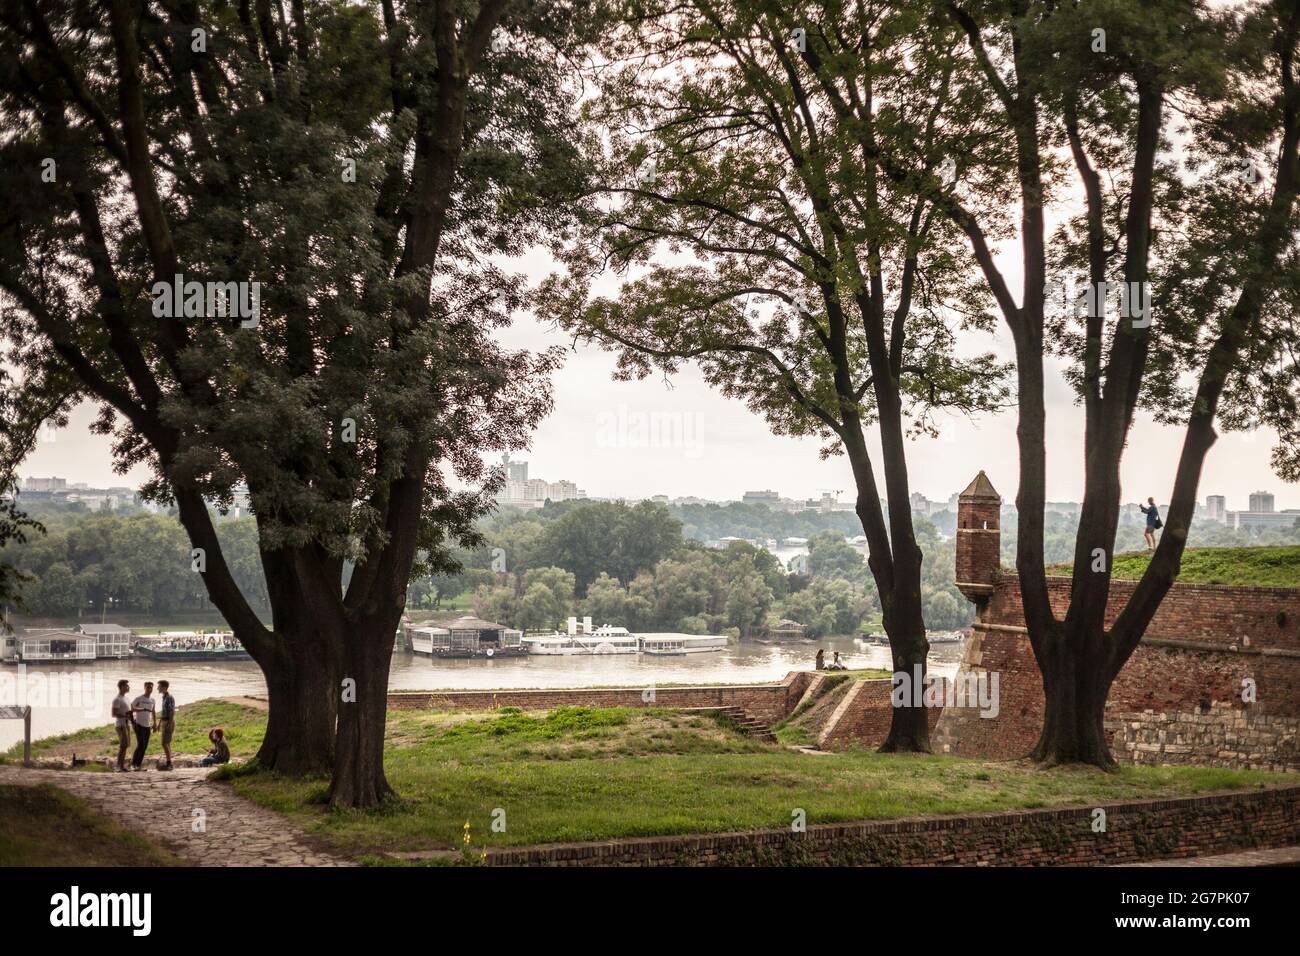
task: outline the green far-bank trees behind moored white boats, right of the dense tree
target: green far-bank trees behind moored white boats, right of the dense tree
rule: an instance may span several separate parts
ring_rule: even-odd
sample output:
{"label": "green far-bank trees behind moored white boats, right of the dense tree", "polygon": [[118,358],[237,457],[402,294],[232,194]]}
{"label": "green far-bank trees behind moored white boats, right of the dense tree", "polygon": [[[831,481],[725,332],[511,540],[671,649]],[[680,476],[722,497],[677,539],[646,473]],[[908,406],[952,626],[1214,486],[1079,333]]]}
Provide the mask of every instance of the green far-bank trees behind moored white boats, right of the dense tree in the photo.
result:
{"label": "green far-bank trees behind moored white boats, right of the dense tree", "polygon": [[[800,515],[763,506],[701,510],[715,516],[767,515],[783,525],[763,527],[754,533],[758,538],[809,529],[789,523]],[[863,554],[842,531],[812,531],[806,567],[788,568],[771,551],[745,541],[714,549],[690,540],[675,511],[655,502],[582,501],[502,511],[484,524],[486,545],[459,555],[464,570],[415,581],[410,606],[433,609],[468,593],[476,614],[524,630],[590,615],[597,624],[632,631],[744,637],[763,635],[780,618],[802,623],[811,637],[857,633],[879,614],[880,600]],[[928,522],[918,520],[916,527],[926,554],[922,600],[927,620],[936,628],[968,624],[972,609],[953,584],[953,542]]]}

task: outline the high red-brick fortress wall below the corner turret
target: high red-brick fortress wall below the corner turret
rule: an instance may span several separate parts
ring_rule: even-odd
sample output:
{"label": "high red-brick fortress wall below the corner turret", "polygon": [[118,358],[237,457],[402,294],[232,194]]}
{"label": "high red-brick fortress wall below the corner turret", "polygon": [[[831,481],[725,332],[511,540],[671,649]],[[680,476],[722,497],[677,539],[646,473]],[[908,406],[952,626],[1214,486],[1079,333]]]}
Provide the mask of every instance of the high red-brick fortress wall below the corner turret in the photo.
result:
{"label": "high red-brick fortress wall below the corner turret", "polygon": [[[1114,581],[1108,623],[1134,581]],[[1069,607],[1070,581],[1048,579],[1053,610]],[[963,671],[997,671],[994,719],[950,708],[936,750],[1022,757],[1043,726],[1043,680],[1028,636],[1019,581],[1002,574],[975,623]],[[1242,700],[1243,680],[1256,701]],[[1175,584],[1106,702],[1118,760],[1300,770],[1300,589]]]}

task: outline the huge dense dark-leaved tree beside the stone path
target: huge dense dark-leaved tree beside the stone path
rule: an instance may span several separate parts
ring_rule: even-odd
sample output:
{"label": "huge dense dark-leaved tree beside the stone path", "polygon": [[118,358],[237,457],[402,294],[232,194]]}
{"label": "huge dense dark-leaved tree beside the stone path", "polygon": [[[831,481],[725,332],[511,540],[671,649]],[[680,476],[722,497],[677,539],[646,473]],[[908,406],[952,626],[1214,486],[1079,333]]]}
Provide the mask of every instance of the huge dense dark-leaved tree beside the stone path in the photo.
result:
{"label": "huge dense dark-leaved tree beside the stone path", "polygon": [[[73,402],[100,407],[265,674],[259,763],[330,771],[335,805],[389,792],[412,568],[478,544],[480,451],[524,444],[547,407],[555,356],[493,339],[524,290],[491,260],[554,225],[576,176],[580,10],[25,0],[0,17],[0,334],[22,373],[5,454]],[[260,315],[211,295],[168,311],[178,276],[244,284],[244,306],[261,284]],[[209,511],[238,484],[269,627]]]}

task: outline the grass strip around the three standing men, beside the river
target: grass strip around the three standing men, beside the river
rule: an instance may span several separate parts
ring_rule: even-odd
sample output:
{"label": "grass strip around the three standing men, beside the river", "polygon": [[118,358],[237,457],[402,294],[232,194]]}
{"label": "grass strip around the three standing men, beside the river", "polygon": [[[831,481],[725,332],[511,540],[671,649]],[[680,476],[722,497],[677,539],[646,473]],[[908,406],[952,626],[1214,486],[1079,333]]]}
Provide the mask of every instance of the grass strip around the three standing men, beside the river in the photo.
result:
{"label": "grass strip around the three standing men, beside the river", "polygon": [[[261,745],[261,735],[266,726],[266,713],[255,708],[226,701],[205,700],[186,704],[176,709],[176,734],[172,736],[173,754],[205,754],[212,749],[208,731],[221,727],[226,731],[231,757],[251,757]],[[130,757],[135,749],[133,737]],[[91,727],[75,734],[61,734],[53,737],[31,741],[32,760],[39,757],[117,757],[117,736],[113,724]],[[162,756],[162,741],[155,735],[150,740],[150,757]],[[22,760],[22,743],[12,747],[0,760],[18,762]]]}

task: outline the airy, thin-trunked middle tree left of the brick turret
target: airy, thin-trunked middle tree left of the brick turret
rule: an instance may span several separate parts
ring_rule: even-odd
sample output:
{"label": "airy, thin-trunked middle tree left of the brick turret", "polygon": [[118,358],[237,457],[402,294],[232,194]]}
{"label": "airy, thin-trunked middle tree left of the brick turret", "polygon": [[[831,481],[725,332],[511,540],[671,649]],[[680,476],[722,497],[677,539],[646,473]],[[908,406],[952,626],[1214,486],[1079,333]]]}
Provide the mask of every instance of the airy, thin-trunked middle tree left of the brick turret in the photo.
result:
{"label": "airy, thin-trunked middle tree left of the brick turret", "polygon": [[[776,433],[848,458],[894,670],[913,678],[928,644],[907,433],[997,405],[1004,369],[954,347],[958,325],[992,316],[950,220],[866,161],[898,126],[961,109],[942,83],[916,87],[919,21],[894,8],[629,4],[590,107],[610,129],[602,204],[551,315],[618,350],[625,377],[694,362]],[[937,140],[915,146],[941,178]],[[590,300],[604,268],[625,281]],[[928,750],[906,700],[883,749]]]}

